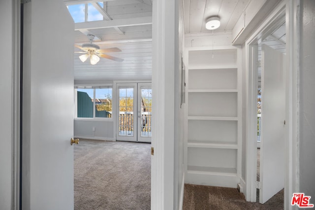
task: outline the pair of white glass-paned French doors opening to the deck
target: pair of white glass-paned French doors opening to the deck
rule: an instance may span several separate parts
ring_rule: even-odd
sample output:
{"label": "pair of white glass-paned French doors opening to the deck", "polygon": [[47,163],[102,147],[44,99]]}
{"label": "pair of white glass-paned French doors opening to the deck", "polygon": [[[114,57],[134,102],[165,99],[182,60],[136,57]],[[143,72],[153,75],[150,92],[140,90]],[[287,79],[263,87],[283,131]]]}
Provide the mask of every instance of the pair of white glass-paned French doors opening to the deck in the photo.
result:
{"label": "pair of white glass-paned French doors opening to the deck", "polygon": [[151,83],[117,84],[117,140],[151,142]]}

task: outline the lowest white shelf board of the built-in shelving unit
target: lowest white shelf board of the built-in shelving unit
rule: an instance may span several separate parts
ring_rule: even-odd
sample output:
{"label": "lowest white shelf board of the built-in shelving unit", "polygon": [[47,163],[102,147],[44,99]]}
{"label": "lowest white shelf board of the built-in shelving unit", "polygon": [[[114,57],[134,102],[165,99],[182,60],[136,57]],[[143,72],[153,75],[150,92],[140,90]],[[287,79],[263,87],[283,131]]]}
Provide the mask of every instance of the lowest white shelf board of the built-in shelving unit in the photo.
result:
{"label": "lowest white shelf board of the built-in shelving unit", "polygon": [[232,176],[236,176],[236,169],[232,169],[232,168],[187,166],[187,172],[190,173],[190,174],[232,175]]}

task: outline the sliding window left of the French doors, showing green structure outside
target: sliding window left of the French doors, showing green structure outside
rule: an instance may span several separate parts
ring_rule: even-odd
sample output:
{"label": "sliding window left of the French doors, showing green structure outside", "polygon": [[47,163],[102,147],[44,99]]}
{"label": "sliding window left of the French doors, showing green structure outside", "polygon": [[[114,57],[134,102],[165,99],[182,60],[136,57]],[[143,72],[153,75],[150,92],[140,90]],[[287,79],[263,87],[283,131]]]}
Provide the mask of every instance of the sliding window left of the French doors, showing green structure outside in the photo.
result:
{"label": "sliding window left of the French doors, showing green structure outside", "polygon": [[112,87],[77,88],[77,117],[112,118]]}

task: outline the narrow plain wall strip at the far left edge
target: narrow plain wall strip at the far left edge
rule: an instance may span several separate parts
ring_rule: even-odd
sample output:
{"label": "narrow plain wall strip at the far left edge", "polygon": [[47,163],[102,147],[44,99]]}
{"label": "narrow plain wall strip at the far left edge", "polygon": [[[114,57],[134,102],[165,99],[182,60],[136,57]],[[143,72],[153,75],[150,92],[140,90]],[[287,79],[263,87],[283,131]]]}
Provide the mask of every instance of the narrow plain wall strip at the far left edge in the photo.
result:
{"label": "narrow plain wall strip at the far left edge", "polygon": [[0,26],[5,38],[0,39],[0,209],[11,209],[12,198],[12,75],[13,75],[13,4],[0,1]]}

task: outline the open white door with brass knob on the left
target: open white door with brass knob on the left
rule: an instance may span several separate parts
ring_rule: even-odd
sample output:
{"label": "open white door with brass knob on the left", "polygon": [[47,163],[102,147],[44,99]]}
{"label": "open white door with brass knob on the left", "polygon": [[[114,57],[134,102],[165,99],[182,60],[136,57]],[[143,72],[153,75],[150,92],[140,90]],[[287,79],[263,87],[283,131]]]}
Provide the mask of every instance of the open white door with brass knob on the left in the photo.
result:
{"label": "open white door with brass knob on the left", "polygon": [[74,23],[63,0],[24,4],[24,210],[73,209]]}

